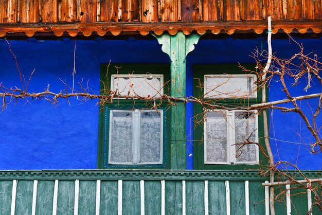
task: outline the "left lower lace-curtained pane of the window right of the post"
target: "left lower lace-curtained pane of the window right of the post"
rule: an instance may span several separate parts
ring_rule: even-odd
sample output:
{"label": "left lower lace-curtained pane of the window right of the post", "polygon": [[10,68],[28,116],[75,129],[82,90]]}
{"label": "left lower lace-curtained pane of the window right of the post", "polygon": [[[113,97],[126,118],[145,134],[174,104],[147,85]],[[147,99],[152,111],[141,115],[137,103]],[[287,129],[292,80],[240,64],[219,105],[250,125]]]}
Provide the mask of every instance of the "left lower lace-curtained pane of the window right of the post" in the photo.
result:
{"label": "left lower lace-curtained pane of the window right of the post", "polygon": [[227,162],[226,112],[207,112],[205,163]]}

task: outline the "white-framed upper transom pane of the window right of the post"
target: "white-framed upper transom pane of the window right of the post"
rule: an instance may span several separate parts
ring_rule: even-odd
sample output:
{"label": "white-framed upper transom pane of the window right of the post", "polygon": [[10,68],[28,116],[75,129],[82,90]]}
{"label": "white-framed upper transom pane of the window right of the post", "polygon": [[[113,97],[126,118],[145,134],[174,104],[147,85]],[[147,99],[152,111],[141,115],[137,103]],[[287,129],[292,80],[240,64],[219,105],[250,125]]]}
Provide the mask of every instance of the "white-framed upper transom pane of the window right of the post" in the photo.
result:
{"label": "white-framed upper transom pane of the window right of the post", "polygon": [[204,75],[205,98],[257,98],[256,75]]}

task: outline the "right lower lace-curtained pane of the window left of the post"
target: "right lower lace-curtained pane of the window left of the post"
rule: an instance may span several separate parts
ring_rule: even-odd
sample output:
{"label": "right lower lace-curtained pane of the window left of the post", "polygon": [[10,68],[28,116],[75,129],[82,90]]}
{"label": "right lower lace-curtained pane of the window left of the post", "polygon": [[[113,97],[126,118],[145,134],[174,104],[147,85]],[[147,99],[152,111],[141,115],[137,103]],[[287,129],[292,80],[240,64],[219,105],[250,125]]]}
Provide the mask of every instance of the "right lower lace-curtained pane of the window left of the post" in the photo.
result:
{"label": "right lower lace-curtained pane of the window left of the post", "polygon": [[140,163],[162,163],[163,112],[140,111]]}

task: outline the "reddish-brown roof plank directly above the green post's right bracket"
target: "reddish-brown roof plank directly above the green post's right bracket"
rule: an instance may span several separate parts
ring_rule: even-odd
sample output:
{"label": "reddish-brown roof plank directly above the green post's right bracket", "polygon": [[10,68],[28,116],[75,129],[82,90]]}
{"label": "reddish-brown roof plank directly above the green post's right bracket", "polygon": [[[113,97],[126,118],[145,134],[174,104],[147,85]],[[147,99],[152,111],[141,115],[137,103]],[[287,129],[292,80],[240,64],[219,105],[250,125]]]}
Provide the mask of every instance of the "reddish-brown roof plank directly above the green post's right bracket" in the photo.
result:
{"label": "reddish-brown roof plank directly above the green post's right bracket", "polygon": [[181,20],[199,21],[199,0],[181,1]]}

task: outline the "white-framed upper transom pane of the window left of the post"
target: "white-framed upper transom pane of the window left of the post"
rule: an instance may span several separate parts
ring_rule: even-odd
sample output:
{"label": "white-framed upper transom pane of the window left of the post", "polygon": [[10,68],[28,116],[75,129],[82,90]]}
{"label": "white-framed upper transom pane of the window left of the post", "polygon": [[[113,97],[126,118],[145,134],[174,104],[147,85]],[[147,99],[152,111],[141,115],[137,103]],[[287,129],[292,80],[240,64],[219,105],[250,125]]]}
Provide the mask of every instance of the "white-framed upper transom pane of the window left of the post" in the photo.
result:
{"label": "white-framed upper transom pane of the window left of the post", "polygon": [[163,95],[163,75],[112,75],[111,89],[122,96],[159,97]]}

